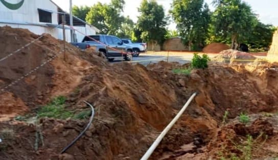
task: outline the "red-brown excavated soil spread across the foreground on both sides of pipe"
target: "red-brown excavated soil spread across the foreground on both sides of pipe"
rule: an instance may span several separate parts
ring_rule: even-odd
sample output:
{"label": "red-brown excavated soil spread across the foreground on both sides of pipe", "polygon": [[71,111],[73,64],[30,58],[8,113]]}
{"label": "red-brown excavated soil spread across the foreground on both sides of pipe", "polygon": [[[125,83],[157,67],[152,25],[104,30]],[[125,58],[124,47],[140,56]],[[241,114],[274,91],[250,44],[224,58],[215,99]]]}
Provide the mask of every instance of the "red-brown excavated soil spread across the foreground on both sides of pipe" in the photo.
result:
{"label": "red-brown excavated soil spread across the foreground on both sides of pipe", "polygon": [[[17,30],[0,28],[0,33],[6,37],[6,41],[2,40],[6,55],[20,46],[13,46],[14,39],[10,37],[20,37],[20,44],[37,37],[27,30]],[[38,45],[30,46],[24,53],[3,61],[5,65],[0,63],[1,87],[60,51],[61,42],[51,36],[36,43]],[[91,127],[65,154],[60,154],[87,120],[40,119],[35,124],[13,119],[1,121],[0,159],[140,159],[159,131],[195,91],[198,91],[195,101],[151,159],[199,159],[212,153],[206,146],[217,138],[225,111],[230,113],[228,118],[235,118],[240,112],[277,110],[278,66],[275,64],[212,63],[207,69],[193,70],[187,76],[172,73],[173,68],[187,67],[177,63],[160,62],[147,68],[128,63],[112,65],[90,51],[80,51],[70,44],[66,47],[66,61],[60,55],[0,93],[7,99],[0,105],[1,110],[7,116],[34,114],[38,106],[52,97],[64,95],[67,110],[87,109],[83,100],[94,104],[96,115]],[[50,54],[49,49],[55,52]],[[9,105],[4,105],[7,103]],[[261,124],[267,125],[258,123],[258,126]]]}

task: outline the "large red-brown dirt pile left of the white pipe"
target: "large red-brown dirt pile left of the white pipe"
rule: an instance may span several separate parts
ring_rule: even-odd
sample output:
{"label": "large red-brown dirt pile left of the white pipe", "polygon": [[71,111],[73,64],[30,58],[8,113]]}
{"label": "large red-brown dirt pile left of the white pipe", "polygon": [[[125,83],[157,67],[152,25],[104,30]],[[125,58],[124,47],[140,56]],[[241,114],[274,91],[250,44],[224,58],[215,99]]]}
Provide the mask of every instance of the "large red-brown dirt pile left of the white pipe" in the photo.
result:
{"label": "large red-brown dirt pile left of the white pipe", "polygon": [[[2,46],[5,48],[5,55],[2,57],[38,37],[27,30],[9,27],[1,28],[1,33],[3,39],[6,38]],[[13,45],[15,39],[18,40],[17,45]],[[3,61],[0,66],[1,87],[55,57],[61,51],[61,43],[47,35]],[[191,94],[183,94],[183,100],[178,102],[180,97],[174,90],[178,87],[161,83],[159,76],[144,66],[123,63],[115,67],[104,59],[91,55],[89,51],[81,52],[69,44],[66,48],[66,61],[60,54],[34,74],[1,93],[7,99],[0,105],[6,118],[18,114],[31,115],[20,123],[14,120],[1,122],[0,138],[4,144],[1,158],[45,159],[45,156],[66,156],[60,155],[60,150],[75,138],[85,123],[76,120],[34,121],[33,117],[36,116],[37,108],[41,108],[40,105],[47,103],[52,97],[63,95],[68,99],[66,110],[86,110],[83,100],[87,100],[94,104],[97,112],[94,124],[87,131],[87,138],[83,137],[73,149],[67,151],[69,156],[76,154],[78,159],[122,159],[123,156],[130,156],[137,159],[147,150],[157,131],[173,117],[172,106],[185,102]],[[9,132],[14,137],[5,136],[8,128],[12,128]],[[39,140],[38,135],[43,135],[42,140]],[[23,137],[26,138],[22,140]],[[29,146],[22,148],[27,142]],[[12,153],[12,150],[18,150],[22,154]]]}

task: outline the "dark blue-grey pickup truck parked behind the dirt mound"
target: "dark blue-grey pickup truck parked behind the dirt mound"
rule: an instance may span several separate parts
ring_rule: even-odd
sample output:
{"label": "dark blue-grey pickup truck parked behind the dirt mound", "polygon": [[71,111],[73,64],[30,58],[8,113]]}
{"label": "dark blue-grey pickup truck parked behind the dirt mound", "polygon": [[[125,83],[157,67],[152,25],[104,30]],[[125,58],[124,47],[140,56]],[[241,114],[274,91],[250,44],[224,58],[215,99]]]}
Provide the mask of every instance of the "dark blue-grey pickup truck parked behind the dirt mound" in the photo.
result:
{"label": "dark blue-grey pickup truck parked behind the dirt mound", "polygon": [[118,37],[110,35],[85,36],[81,43],[71,44],[81,49],[93,48],[96,52],[104,54],[108,61],[113,61],[115,58],[131,61],[133,55],[132,46],[124,44]]}

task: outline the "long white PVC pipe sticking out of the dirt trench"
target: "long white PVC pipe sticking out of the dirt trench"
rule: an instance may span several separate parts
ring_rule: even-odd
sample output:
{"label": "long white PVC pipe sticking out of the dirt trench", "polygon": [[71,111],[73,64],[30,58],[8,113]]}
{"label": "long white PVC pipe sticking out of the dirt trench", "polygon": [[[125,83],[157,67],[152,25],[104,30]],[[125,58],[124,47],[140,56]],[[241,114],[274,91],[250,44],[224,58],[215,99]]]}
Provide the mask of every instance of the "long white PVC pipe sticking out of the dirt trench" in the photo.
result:
{"label": "long white PVC pipe sticking out of the dirt trench", "polygon": [[196,96],[196,92],[189,98],[186,104],[183,105],[182,109],[179,111],[179,113],[176,115],[176,117],[167,125],[167,127],[161,132],[161,134],[157,137],[157,139],[153,142],[151,147],[147,150],[147,152],[144,154],[144,156],[141,158],[141,160],[147,160],[155,148],[158,146],[158,144],[161,142],[161,140],[164,138],[164,136],[167,134],[167,132],[172,128],[172,126],[176,123],[176,121],[179,119],[179,117],[183,114],[184,111],[186,111],[188,105],[192,101],[192,99]]}

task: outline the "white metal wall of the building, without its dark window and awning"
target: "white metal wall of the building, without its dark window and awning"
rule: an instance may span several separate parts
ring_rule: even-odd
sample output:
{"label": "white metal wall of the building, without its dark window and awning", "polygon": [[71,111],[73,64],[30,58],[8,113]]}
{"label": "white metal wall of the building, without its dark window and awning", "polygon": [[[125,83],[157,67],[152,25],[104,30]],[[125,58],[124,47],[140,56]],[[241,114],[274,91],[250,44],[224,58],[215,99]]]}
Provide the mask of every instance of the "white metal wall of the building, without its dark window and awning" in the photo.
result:
{"label": "white metal wall of the building, without its dark window and awning", "polygon": [[[6,0],[9,3],[16,4],[21,0]],[[8,9],[0,2],[0,26],[9,25],[12,28],[23,28],[29,31],[41,35],[43,33],[49,33],[57,39],[63,39],[62,29],[53,29],[49,26],[40,26],[34,24],[46,24],[45,22],[39,22],[38,8],[49,11],[57,12],[58,8],[50,0],[25,0],[24,4],[17,10]],[[24,23],[24,24],[20,24]],[[26,23],[26,24],[25,24]],[[28,24],[30,23],[30,24]],[[58,24],[58,14],[52,13],[52,24]],[[85,35],[94,35],[96,31],[89,25],[74,26],[76,30]],[[76,32],[77,41],[81,42],[84,38],[83,34]],[[71,31],[65,30],[65,38],[67,42],[71,42]]]}

